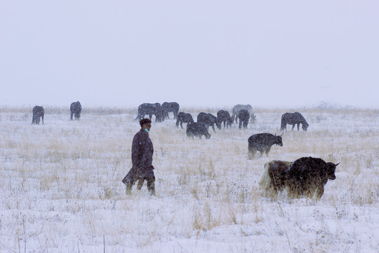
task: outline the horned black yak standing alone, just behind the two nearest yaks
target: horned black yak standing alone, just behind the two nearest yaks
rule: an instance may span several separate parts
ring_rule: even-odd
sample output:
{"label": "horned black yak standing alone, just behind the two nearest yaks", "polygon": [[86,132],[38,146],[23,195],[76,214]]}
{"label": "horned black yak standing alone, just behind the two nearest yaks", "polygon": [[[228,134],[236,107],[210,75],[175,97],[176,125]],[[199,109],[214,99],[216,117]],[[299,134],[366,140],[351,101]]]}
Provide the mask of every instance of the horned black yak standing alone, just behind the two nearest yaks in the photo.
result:
{"label": "horned black yak standing alone, just behind the two nearest yaks", "polygon": [[271,146],[277,144],[283,146],[281,142],[281,136],[276,136],[272,134],[253,134],[248,138],[248,157],[249,159],[253,158],[257,151],[260,151],[260,156],[262,157],[263,153],[270,153]]}

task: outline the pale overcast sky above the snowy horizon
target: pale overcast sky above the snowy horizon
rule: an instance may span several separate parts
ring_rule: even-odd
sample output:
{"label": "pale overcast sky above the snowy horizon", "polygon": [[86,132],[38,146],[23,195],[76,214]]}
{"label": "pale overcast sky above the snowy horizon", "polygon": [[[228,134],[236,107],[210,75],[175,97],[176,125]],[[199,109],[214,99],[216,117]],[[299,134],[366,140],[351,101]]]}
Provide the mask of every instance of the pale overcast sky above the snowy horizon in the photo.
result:
{"label": "pale overcast sky above the snowy horizon", "polygon": [[0,105],[379,108],[379,1],[0,0]]}

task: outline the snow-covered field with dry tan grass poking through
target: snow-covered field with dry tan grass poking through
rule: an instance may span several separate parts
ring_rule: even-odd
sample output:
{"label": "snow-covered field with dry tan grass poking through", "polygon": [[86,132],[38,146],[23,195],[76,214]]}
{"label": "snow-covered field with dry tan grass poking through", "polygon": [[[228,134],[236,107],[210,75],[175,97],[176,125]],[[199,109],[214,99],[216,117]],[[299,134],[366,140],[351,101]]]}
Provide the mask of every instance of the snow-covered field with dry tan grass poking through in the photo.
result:
{"label": "snow-covered field with dry tan grass poking through", "polygon": [[[198,112],[231,108],[181,108]],[[281,134],[284,112],[308,131],[247,159],[252,134]],[[187,138],[153,120],[157,195],[125,194],[136,108],[0,108],[0,252],[378,252],[379,110],[255,108],[248,129]],[[154,117],[153,117],[154,119]],[[264,197],[265,162],[320,157],[340,164],[321,200]]]}

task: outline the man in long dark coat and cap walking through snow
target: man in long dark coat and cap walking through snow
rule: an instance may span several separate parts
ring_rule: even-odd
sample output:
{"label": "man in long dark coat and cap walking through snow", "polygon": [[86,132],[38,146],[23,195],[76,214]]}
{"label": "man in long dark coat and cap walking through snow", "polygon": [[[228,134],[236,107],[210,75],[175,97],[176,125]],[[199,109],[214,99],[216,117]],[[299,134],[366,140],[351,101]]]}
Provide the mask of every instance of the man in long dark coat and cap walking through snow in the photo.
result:
{"label": "man in long dark coat and cap walking through snow", "polygon": [[152,121],[150,119],[141,119],[140,126],[141,129],[135,134],[132,143],[131,159],[133,167],[128,174],[126,174],[122,182],[126,184],[126,194],[131,194],[131,189],[135,181],[138,180],[137,189],[140,190],[143,182],[146,180],[147,190],[149,190],[149,193],[152,195],[155,195],[155,176],[153,171],[154,167],[152,166],[154,148],[149,138]]}

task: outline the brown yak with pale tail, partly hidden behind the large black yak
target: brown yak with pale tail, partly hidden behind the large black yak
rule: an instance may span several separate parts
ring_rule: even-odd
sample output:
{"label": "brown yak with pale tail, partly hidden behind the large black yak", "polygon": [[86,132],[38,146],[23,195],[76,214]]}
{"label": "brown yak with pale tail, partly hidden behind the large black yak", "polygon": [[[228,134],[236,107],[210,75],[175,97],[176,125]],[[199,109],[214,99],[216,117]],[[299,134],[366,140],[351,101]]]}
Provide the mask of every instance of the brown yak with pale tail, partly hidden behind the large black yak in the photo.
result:
{"label": "brown yak with pale tail, partly hidden behind the large black yak", "polygon": [[284,186],[286,176],[284,171],[290,167],[292,162],[273,160],[265,164],[265,172],[259,181],[260,188],[269,193],[277,193]]}

